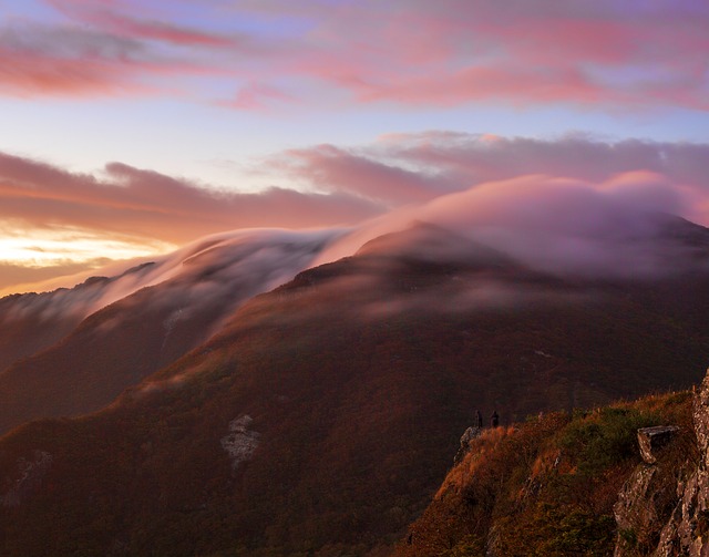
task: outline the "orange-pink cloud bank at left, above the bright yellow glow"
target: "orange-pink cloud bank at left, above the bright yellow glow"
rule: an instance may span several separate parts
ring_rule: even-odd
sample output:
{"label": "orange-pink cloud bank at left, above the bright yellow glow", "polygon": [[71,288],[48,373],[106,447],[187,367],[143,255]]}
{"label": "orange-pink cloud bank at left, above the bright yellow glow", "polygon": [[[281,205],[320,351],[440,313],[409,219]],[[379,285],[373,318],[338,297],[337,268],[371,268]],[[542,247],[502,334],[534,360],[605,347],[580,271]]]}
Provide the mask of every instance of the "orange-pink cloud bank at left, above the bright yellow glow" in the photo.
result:
{"label": "orange-pink cloud bank at left, above the bright yellow glow", "polygon": [[0,219],[35,227],[76,226],[174,243],[248,227],[351,224],[380,213],[346,194],[214,193],[195,184],[120,163],[106,178],[0,154]]}

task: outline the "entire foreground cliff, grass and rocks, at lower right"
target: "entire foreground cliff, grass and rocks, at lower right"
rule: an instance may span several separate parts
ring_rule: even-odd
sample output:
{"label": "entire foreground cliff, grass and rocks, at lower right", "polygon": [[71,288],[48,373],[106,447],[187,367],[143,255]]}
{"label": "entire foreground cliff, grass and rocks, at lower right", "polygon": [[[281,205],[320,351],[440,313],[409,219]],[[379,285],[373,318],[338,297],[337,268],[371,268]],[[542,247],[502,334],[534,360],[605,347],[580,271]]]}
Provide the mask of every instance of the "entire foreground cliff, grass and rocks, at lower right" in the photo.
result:
{"label": "entire foreground cliff, grass and rocks, at lower right", "polygon": [[464,445],[395,555],[709,555],[709,374]]}

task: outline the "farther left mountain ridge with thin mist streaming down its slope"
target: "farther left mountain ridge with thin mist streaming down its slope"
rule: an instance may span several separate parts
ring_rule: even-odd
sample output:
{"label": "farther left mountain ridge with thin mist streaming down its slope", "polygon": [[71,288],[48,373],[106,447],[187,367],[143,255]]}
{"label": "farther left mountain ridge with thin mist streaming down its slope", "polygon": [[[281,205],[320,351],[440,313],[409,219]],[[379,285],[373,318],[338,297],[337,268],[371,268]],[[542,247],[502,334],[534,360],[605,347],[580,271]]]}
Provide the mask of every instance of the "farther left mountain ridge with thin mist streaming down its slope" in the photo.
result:
{"label": "farther left mountain ridge with thin mist streaming down its slope", "polygon": [[213,236],[115,278],[0,300],[0,354],[13,362],[0,373],[0,432],[103,408],[204,342],[245,300],[308,267],[330,237]]}

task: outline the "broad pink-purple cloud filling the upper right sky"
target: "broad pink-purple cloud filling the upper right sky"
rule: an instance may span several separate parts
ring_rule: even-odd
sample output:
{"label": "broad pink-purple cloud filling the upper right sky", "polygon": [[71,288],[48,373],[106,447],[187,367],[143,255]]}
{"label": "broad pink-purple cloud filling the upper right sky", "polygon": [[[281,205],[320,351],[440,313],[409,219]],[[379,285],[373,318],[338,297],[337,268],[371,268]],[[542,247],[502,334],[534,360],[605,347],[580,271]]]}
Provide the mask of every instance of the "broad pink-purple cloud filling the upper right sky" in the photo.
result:
{"label": "broad pink-purple cloud filling the upper right sky", "polygon": [[278,72],[319,80],[359,102],[427,106],[708,107],[709,12],[684,2],[243,6],[310,21],[296,48],[267,60],[273,72],[267,68],[263,81]]}

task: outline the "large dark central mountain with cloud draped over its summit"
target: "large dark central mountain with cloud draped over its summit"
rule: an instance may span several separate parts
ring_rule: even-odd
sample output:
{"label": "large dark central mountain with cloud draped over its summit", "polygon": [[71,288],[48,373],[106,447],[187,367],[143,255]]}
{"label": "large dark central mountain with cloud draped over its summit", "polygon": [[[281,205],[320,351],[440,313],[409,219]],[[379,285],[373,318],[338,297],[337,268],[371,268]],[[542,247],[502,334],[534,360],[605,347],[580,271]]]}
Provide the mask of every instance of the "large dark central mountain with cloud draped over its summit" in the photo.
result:
{"label": "large dark central mountain with cloud draped over its summit", "polygon": [[[661,272],[552,274],[428,225],[300,272],[103,411],[0,439],[0,553],[386,551],[476,409],[508,424],[698,381],[709,231],[662,226],[633,259],[660,246]],[[113,339],[111,359],[137,365],[133,339],[156,347],[166,331],[150,321],[176,310],[145,309],[165,288],[96,313],[75,345]],[[56,350],[70,370],[74,352]],[[107,365],[75,353],[86,373]]]}

